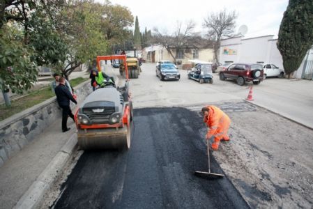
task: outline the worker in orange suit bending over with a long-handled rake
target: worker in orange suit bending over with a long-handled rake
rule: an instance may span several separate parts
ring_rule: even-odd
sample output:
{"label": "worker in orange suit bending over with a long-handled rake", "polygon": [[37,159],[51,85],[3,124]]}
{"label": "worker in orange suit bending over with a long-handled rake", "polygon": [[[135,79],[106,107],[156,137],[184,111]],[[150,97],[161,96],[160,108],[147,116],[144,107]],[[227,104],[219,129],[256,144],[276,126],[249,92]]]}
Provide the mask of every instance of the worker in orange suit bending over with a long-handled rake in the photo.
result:
{"label": "worker in orange suit bending over with a long-handled rake", "polygon": [[227,134],[229,130],[229,125],[231,120],[229,116],[224,113],[220,108],[214,105],[209,105],[201,109],[202,114],[204,114],[204,123],[208,127],[206,133],[206,140],[210,140],[214,137],[212,144],[213,150],[218,150],[220,141],[229,141],[229,136]]}

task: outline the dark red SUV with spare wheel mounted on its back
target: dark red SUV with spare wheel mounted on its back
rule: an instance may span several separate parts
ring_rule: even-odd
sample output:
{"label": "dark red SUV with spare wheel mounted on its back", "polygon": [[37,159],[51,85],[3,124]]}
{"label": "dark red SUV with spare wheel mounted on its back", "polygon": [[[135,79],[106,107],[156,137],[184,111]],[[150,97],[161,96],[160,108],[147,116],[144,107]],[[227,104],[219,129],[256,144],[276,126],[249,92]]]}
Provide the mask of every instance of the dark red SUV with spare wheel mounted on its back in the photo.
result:
{"label": "dark red SUV with spare wheel mounted on its back", "polygon": [[235,79],[237,84],[243,86],[246,82],[259,84],[263,81],[263,66],[260,64],[233,63],[226,70],[220,72],[220,79]]}

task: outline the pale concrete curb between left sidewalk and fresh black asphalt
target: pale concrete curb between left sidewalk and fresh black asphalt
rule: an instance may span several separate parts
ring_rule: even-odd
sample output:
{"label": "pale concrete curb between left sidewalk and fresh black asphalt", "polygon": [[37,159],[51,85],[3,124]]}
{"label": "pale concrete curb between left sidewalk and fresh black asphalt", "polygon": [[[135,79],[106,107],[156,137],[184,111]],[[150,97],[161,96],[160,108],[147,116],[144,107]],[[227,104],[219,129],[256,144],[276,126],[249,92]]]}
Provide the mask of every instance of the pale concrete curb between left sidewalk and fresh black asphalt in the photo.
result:
{"label": "pale concrete curb between left sidewalk and fresh black asphalt", "polygon": [[47,165],[45,170],[40,173],[35,182],[20,198],[14,208],[39,208],[43,201],[45,193],[52,187],[54,182],[62,173],[63,167],[70,159],[73,151],[77,146],[77,134],[74,133],[68,139],[66,144],[61,148],[59,153],[54,156],[52,161]]}

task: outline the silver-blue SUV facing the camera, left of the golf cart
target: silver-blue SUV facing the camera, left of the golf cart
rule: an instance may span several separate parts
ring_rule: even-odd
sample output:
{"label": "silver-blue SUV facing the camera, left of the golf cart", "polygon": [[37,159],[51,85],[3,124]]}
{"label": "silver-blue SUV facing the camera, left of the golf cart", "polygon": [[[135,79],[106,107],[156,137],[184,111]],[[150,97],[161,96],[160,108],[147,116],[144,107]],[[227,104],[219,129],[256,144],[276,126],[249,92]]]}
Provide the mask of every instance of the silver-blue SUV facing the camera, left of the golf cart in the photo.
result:
{"label": "silver-blue SUV facing the camera, left of the golf cart", "polygon": [[176,68],[176,65],[171,63],[160,64],[155,69],[155,74],[157,77],[160,78],[161,81],[163,80],[179,80],[181,75]]}

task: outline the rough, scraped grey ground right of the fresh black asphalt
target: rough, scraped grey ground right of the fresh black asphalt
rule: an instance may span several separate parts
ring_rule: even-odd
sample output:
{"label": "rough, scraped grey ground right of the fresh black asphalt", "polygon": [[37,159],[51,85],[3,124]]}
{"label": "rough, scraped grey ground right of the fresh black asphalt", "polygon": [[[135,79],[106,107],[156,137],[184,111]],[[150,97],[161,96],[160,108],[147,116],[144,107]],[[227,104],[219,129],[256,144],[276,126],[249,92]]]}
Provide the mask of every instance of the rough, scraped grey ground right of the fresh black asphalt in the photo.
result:
{"label": "rough, scraped grey ground right of the fresh black asphalt", "polygon": [[246,102],[220,107],[231,141],[213,155],[250,206],[312,208],[313,131]]}

